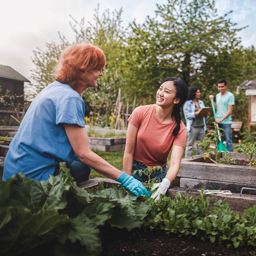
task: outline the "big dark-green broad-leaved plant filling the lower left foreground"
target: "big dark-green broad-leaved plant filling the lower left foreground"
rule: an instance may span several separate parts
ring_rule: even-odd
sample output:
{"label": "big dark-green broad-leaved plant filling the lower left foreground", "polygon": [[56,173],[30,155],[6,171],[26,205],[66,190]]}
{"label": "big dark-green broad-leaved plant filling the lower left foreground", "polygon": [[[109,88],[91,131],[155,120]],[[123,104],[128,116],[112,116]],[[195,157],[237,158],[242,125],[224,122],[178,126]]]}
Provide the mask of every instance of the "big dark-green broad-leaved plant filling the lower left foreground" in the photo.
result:
{"label": "big dark-green broad-leaved plant filling the lower left foreground", "polygon": [[0,182],[0,255],[18,255],[51,241],[55,255],[63,256],[67,245],[72,255],[99,255],[98,226],[141,227],[150,208],[141,198],[118,185],[94,193],[80,189],[65,163],[47,181],[16,174]]}

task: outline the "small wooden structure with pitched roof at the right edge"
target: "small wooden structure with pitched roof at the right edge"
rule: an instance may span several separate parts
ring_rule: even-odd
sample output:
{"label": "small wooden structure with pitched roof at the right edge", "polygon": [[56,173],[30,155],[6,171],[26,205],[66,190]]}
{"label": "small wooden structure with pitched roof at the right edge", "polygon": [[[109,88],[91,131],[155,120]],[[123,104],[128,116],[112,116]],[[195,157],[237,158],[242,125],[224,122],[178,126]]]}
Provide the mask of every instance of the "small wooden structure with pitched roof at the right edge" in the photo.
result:
{"label": "small wooden structure with pitched roof at the right edge", "polygon": [[256,80],[246,80],[237,87],[237,92],[239,90],[245,90],[245,95],[249,98],[248,132],[250,135],[252,126],[256,126]]}

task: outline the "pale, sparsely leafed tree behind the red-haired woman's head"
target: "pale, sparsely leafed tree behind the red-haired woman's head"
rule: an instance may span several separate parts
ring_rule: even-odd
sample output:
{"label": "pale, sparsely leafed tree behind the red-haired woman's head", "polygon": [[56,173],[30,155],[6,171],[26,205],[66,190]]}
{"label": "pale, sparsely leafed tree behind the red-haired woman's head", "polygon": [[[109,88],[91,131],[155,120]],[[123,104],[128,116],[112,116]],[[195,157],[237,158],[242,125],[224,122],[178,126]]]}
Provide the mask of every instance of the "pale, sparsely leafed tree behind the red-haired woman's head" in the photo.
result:
{"label": "pale, sparsely leafed tree behind the red-haired woman's head", "polygon": [[[46,50],[33,51],[33,63],[36,68],[32,70],[33,84],[36,86],[35,95],[49,83],[53,82],[53,68],[58,61],[59,54],[66,46],[73,43],[91,43],[98,45],[104,51],[107,65],[103,71],[104,76],[98,80],[98,88],[90,88],[83,94],[87,114],[90,111],[113,111],[118,89],[122,86],[123,79],[119,75],[118,65],[122,59],[122,44],[125,38],[124,28],[121,27],[122,9],[110,15],[106,10],[102,15],[98,8],[95,9],[94,22],[88,22],[85,27],[85,19],[77,22],[73,17],[70,26],[75,34],[75,42],[69,43],[64,36],[59,35],[61,43],[46,43]],[[100,109],[99,109],[100,108]]]}

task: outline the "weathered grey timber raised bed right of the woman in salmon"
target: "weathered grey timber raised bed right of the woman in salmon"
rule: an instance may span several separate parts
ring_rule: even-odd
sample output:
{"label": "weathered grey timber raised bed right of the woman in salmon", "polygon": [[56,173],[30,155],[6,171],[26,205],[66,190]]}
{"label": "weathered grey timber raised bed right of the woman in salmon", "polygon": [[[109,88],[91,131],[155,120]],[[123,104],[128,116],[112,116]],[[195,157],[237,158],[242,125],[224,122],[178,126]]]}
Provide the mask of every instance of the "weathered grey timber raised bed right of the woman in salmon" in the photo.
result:
{"label": "weathered grey timber raised bed right of the woman in salmon", "polygon": [[[221,152],[219,152],[221,157]],[[214,155],[214,153],[213,153]],[[232,152],[232,159],[246,161],[244,154]],[[240,193],[242,187],[256,188],[256,167],[211,163],[204,155],[183,158],[176,178],[178,186],[193,189],[220,189]],[[245,193],[256,195],[256,191]],[[244,193],[244,192],[243,192]]]}

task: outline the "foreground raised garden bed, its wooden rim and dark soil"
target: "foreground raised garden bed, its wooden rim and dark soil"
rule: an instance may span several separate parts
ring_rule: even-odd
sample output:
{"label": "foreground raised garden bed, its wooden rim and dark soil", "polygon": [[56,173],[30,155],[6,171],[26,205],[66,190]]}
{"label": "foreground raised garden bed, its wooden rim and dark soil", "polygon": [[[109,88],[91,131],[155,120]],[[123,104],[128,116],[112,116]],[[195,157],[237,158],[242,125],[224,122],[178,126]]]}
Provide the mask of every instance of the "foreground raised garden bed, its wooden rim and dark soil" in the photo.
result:
{"label": "foreground raised garden bed, its wooden rim and dark soil", "polygon": [[[109,187],[117,183],[107,178],[95,178],[78,184],[81,188],[92,188],[104,182],[104,187]],[[170,187],[167,190],[167,196],[175,198],[176,193],[180,192],[185,195],[185,188]],[[198,196],[197,189],[189,189],[189,197]],[[255,204],[253,196],[231,196],[224,195],[205,195],[210,197],[209,206],[213,206],[219,199],[226,198],[230,208],[234,213],[241,215],[243,210],[252,207]],[[135,228],[130,232],[126,229],[113,228],[105,225],[100,227],[100,237],[102,240],[102,252],[100,256],[117,256],[117,255],[222,255],[222,256],[247,256],[254,255],[252,246],[243,246],[239,248],[227,247],[225,243],[219,245],[211,243],[208,240],[202,241],[196,238],[179,237],[177,234],[165,234],[163,230],[145,230]]]}

